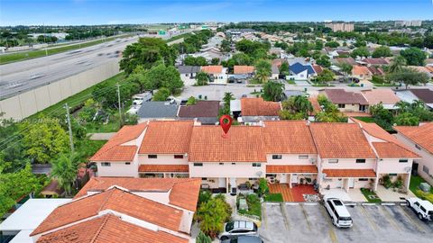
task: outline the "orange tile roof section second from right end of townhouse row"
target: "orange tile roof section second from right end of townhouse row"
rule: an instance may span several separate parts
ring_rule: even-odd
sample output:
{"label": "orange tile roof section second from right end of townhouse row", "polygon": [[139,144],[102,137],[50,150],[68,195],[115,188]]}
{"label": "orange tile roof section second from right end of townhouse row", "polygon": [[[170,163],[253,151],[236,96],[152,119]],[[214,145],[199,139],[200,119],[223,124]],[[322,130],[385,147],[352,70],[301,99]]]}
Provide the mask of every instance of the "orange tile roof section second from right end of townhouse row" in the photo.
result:
{"label": "orange tile roof section second from right end of townhouse row", "polygon": [[322,158],[376,157],[357,124],[315,122],[309,128]]}

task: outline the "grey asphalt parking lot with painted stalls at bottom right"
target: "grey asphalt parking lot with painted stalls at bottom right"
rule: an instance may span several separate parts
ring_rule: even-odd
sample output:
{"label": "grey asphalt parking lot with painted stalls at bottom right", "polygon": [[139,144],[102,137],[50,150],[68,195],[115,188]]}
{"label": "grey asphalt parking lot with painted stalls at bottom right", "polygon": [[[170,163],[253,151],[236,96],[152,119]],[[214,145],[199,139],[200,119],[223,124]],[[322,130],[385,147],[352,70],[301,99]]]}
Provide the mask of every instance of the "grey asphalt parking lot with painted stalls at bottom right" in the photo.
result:
{"label": "grey asphalt parking lot with painted stalls at bottom right", "polygon": [[347,206],[354,226],[337,229],[318,203],[263,203],[264,242],[431,242],[433,222],[401,205]]}

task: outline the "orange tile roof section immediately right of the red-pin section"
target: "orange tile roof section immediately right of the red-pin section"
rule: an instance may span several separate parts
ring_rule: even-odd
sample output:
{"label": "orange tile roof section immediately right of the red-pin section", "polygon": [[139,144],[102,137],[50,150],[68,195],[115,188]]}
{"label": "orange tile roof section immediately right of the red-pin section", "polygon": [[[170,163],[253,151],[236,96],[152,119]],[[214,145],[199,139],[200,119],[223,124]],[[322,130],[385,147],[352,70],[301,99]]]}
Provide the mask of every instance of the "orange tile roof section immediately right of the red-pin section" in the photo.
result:
{"label": "orange tile roof section immediately right of the red-pin section", "polygon": [[307,121],[264,121],[267,154],[316,154]]}

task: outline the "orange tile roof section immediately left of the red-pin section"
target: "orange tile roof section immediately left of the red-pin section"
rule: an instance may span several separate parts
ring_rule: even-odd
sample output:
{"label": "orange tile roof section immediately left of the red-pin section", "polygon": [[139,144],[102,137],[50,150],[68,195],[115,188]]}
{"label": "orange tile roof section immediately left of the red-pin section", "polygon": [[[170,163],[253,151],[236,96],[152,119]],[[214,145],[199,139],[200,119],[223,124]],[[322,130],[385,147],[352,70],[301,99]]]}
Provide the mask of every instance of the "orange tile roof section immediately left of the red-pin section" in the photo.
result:
{"label": "orange tile roof section immediately left of the red-pin section", "polygon": [[139,154],[188,152],[194,121],[150,121]]}

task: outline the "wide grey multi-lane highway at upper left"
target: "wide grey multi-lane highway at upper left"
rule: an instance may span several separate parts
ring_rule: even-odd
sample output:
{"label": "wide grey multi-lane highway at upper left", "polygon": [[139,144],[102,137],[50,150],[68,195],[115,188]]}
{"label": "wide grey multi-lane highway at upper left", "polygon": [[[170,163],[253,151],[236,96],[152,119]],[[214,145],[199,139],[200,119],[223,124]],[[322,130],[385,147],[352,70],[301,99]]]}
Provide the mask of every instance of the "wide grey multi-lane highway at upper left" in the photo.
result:
{"label": "wide grey multi-lane highway at upper left", "polygon": [[138,36],[121,38],[48,57],[1,65],[0,100],[98,67],[108,61],[119,61],[120,52],[137,40]]}

